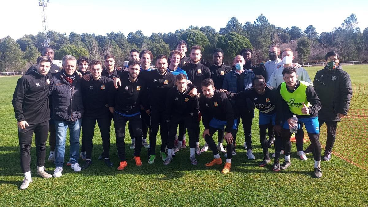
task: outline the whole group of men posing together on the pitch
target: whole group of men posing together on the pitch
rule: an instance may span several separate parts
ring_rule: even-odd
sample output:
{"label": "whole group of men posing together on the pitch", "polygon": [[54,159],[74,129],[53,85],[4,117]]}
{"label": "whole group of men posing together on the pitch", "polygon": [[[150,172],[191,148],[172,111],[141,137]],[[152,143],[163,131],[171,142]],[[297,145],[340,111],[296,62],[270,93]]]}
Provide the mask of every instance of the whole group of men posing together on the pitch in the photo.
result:
{"label": "whole group of men posing together on the pitch", "polygon": [[[234,57],[233,67],[222,62],[222,49],[213,51],[213,64],[201,62],[201,46],[192,46],[189,57],[185,55],[187,51],[187,43],[178,41],[176,50],[172,50],[169,57],[159,55],[155,58],[156,69],[151,65],[153,54],[149,50],[140,53],[131,50],[127,66],[117,68],[112,54],[105,55],[105,67],[100,60],[87,57],[77,60],[66,55],[60,70],[52,64],[54,50],[43,48],[37,64],[18,80],[12,100],[18,121],[21,168],[25,176],[20,188],[25,189],[32,182],[30,147],[33,133],[37,174],[43,178],[52,177],[44,168],[49,131],[49,160],[54,161],[56,167],[53,176],[60,177],[67,129],[70,130],[70,160],[67,165],[78,172],[92,165],[96,122],[103,145],[98,159],[104,160],[107,166],[113,166],[109,153],[112,120],[120,159],[118,170],[123,170],[128,164],[124,141],[128,122],[130,148],[134,149],[133,159],[137,166],[142,165],[142,147],[148,148],[148,163],[155,162],[159,132],[159,155],[163,164],[169,165],[175,153],[186,147],[187,130],[191,164],[198,164],[195,154],[210,149],[214,159],[206,166],[222,165],[219,152],[223,152],[226,153],[226,162],[222,172],[230,172],[231,158],[236,155],[240,120],[247,157],[255,159],[251,133],[255,107],[259,109],[259,137],[264,154],[259,166],[270,162],[268,148],[273,143],[275,161],[272,169],[279,171],[291,165],[290,129],[294,126],[291,117],[295,115],[299,119],[297,154],[305,160],[305,153],[312,152],[314,175],[316,178],[322,176],[319,127],[326,123],[328,136],[323,160],[329,160],[337,122],[347,115],[352,97],[350,76],[342,70],[336,52],[326,54],[326,66],[317,72],[312,83],[307,71],[299,64],[293,64],[293,51],[288,48],[281,51],[278,46],[271,46],[270,60],[260,65],[251,63],[251,49],[243,49]],[[278,58],[279,55],[282,59]],[[206,141],[202,149],[199,147],[200,120],[204,125],[202,137]],[[311,140],[305,151],[301,124],[304,124]],[[212,138],[216,132],[217,144]],[[280,154],[285,156],[282,164],[279,162]],[[85,160],[82,166],[78,164],[79,157]]]}

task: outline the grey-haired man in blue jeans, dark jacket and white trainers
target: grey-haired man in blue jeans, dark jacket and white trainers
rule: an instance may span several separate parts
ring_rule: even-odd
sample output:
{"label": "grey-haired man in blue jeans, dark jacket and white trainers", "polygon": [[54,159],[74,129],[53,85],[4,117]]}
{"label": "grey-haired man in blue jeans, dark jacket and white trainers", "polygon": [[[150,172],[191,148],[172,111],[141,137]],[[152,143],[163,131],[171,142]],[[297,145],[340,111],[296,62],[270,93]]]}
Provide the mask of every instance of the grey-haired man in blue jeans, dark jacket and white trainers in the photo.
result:
{"label": "grey-haired man in blue jeans, dark jacket and white trainers", "polygon": [[71,55],[63,57],[63,70],[52,77],[49,94],[53,100],[55,120],[55,171],[54,177],[60,177],[63,171],[65,141],[67,129],[70,130],[70,161],[75,172],[81,171],[78,164],[79,135],[84,106],[81,93],[81,80],[75,72],[77,60]]}

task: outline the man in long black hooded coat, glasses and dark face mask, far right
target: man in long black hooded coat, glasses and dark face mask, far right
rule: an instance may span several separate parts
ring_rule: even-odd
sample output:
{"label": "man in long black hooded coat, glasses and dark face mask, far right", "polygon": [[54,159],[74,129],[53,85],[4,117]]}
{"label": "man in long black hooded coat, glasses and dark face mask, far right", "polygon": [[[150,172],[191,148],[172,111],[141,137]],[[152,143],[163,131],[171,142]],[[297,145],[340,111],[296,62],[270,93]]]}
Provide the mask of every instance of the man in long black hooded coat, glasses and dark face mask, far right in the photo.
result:
{"label": "man in long black hooded coat, glasses and dark face mask, far right", "polygon": [[[328,52],[325,55],[325,63],[325,68],[317,71],[313,84],[322,103],[322,108],[318,111],[319,128],[321,129],[323,123],[326,123],[327,127],[325,154],[322,160],[329,161],[336,139],[337,122],[349,111],[353,89],[350,75],[342,69],[337,52]],[[312,146],[309,145],[305,151],[312,152]]]}

